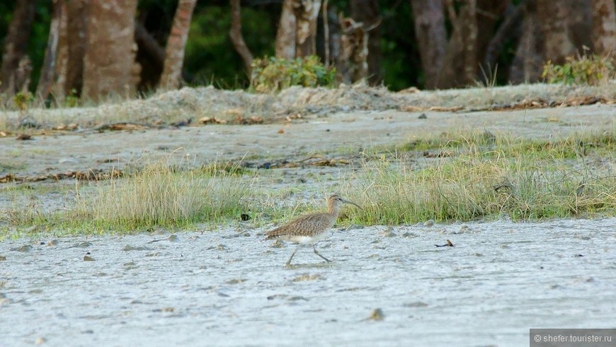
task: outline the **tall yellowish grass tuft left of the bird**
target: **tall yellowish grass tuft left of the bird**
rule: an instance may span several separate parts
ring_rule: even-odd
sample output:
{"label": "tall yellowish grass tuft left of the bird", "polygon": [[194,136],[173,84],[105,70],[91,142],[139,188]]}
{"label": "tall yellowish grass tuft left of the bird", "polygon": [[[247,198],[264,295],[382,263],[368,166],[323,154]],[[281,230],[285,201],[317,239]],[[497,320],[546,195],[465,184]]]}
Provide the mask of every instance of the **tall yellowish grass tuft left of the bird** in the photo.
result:
{"label": "tall yellowish grass tuft left of the bird", "polygon": [[239,216],[248,193],[241,178],[181,172],[156,163],[93,191],[78,189],[72,214],[76,220],[92,220],[96,228],[182,228]]}

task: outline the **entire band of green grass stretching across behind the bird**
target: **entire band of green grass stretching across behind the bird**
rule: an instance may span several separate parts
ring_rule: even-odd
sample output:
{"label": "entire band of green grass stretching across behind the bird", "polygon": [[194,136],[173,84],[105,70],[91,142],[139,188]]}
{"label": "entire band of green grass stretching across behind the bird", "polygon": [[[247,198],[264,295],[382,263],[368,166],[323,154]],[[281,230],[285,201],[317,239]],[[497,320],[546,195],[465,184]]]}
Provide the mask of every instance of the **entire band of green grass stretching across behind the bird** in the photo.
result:
{"label": "entire band of green grass stretching across behind the bird", "polygon": [[[249,225],[263,227],[323,211],[331,192],[363,207],[346,208],[341,224],[615,214],[614,127],[552,139],[486,134],[441,134],[415,139],[413,146],[372,148],[358,170],[313,175],[316,182],[299,186],[283,182],[283,171],[246,169],[241,161],[196,168],[139,162],[122,178],[77,182],[72,193],[55,185],[4,186],[4,201],[13,206],[0,213],[0,229],[6,230],[0,234],[132,233],[203,223],[208,228],[239,223],[242,213],[251,217]],[[424,160],[423,151],[450,155]],[[50,210],[47,199],[53,196],[45,194],[56,191],[68,199]]]}

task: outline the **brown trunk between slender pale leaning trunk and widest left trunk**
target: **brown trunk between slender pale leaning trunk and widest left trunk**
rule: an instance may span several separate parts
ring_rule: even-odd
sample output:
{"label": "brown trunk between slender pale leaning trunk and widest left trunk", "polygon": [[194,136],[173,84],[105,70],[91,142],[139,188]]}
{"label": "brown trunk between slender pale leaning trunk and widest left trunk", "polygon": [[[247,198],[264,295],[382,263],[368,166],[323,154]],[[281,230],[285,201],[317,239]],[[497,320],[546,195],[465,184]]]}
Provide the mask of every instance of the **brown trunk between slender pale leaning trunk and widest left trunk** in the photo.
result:
{"label": "brown trunk between slender pale leaning trunk and widest left trunk", "polygon": [[56,101],[81,95],[84,86],[87,0],[59,1],[59,36],[52,93]]}

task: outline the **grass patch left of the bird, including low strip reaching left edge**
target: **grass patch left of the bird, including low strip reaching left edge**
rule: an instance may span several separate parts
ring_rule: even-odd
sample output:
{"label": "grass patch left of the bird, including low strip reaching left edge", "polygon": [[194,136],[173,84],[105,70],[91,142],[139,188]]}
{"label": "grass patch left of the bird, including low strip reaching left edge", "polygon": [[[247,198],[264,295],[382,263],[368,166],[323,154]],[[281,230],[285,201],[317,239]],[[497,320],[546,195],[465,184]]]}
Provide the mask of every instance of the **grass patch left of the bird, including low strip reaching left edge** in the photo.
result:
{"label": "grass patch left of the bird, including low strip reaching left edge", "polygon": [[77,182],[69,208],[52,213],[36,205],[11,208],[5,218],[11,225],[67,233],[188,228],[239,220],[248,209],[243,200],[250,191],[251,177],[179,171],[154,163],[108,182]]}

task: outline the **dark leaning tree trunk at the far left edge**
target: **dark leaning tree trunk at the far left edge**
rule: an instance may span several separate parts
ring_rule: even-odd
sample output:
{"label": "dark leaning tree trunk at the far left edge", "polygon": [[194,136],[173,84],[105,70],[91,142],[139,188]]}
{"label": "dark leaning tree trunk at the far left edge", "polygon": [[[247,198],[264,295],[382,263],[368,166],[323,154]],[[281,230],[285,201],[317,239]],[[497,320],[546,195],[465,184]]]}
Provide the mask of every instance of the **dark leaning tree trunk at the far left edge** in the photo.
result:
{"label": "dark leaning tree trunk at the far left edge", "polygon": [[16,85],[15,71],[19,61],[25,56],[30,38],[30,28],[34,20],[35,0],[19,0],[13,12],[13,19],[8,25],[4,37],[2,64],[0,66],[0,93],[13,95],[23,86]]}

